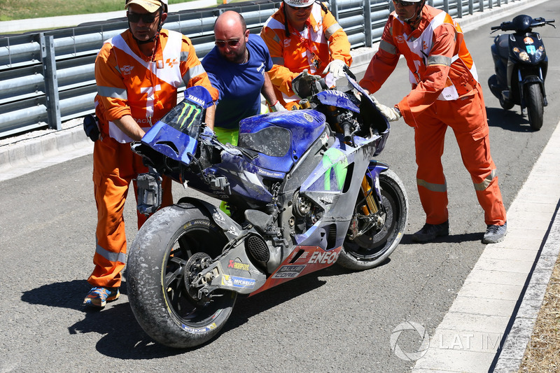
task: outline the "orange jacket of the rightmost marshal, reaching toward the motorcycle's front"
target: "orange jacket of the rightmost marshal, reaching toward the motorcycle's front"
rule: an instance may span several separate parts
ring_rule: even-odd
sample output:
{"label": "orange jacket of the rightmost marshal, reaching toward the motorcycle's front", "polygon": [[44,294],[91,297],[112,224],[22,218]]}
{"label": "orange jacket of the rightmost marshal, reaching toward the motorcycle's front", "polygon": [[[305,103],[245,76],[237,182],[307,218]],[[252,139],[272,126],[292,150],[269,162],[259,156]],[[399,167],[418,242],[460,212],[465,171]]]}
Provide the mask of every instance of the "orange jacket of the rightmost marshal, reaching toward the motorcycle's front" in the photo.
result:
{"label": "orange jacket of the rightmost marshal, reaching toward the motorcycle's front", "polygon": [[379,90],[400,55],[407,61],[412,91],[397,106],[408,125],[416,127],[417,115],[435,100],[456,100],[475,94],[478,76],[463,31],[443,10],[424,6],[419,27],[414,31],[395,12],[391,13],[379,50],[360,85],[371,93]]}

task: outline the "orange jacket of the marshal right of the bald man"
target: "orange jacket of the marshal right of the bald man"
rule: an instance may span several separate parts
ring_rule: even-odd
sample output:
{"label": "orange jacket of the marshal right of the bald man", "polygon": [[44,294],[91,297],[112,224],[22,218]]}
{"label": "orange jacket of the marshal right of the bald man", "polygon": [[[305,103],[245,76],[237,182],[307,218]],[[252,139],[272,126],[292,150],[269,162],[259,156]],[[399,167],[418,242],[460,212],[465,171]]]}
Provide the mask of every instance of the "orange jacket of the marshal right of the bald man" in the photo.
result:
{"label": "orange jacket of the marshal right of the bald man", "polygon": [[[307,69],[309,73],[323,76],[323,70],[333,59],[342,59],[350,66],[350,43],[332,13],[325,11],[318,3],[308,20],[308,28],[296,31],[288,25],[290,36],[286,36],[286,18],[281,4],[279,10],[271,15],[260,31],[274,66],[268,72],[272,84],[283,95],[283,101],[297,101],[300,98],[292,90],[292,80]],[[308,31],[311,32],[308,32]]]}

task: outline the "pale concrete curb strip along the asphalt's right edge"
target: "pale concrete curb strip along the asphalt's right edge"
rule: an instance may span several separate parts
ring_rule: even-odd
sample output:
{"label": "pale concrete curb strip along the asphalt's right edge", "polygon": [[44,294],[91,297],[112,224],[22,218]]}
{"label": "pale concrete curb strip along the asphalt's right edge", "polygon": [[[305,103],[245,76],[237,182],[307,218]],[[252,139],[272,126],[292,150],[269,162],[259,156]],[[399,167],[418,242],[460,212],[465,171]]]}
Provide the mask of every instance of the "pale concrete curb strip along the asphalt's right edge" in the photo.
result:
{"label": "pale concrete curb strip along the asphalt's right edge", "polygon": [[[412,372],[517,372],[560,251],[560,123]],[[528,218],[530,217],[530,218]]]}

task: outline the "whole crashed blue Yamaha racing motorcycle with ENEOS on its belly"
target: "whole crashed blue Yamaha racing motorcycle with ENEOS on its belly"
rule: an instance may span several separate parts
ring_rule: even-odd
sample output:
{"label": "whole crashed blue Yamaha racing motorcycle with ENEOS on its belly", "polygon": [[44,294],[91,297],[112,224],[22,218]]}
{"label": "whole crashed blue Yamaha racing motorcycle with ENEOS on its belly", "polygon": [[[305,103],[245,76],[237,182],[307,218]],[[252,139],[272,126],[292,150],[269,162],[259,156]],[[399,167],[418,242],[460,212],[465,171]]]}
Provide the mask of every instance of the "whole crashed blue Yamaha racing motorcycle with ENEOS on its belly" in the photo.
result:
{"label": "whole crashed blue Yamaha racing motorcycle with ENEOS on its belly", "polygon": [[335,263],[370,269],[398,246],[407,195],[388,165],[374,160],[389,125],[356,81],[347,80],[345,92],[313,78],[294,80],[300,92],[307,87],[302,108],[241,120],[238,146],[218,142],[207,129],[211,97],[204,87],[190,87],[132,143],[155,170],[137,180],[139,211],[158,209],[160,175],[228,207],[183,197],[153,213],[135,237],[127,293],[155,341],[203,344],[228,321],[237,295]]}

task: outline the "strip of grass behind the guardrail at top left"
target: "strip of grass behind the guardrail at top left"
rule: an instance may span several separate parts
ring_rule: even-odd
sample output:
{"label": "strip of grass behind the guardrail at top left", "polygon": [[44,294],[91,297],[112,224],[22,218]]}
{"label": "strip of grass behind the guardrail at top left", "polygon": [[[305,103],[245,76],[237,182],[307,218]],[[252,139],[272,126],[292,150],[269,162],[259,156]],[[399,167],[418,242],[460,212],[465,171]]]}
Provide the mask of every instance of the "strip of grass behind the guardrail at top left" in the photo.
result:
{"label": "strip of grass behind the guardrail at top left", "polygon": [[[188,0],[169,0],[170,4],[186,2]],[[124,16],[125,0],[0,0],[0,21],[105,13],[116,10],[123,10]]]}

